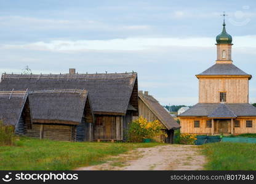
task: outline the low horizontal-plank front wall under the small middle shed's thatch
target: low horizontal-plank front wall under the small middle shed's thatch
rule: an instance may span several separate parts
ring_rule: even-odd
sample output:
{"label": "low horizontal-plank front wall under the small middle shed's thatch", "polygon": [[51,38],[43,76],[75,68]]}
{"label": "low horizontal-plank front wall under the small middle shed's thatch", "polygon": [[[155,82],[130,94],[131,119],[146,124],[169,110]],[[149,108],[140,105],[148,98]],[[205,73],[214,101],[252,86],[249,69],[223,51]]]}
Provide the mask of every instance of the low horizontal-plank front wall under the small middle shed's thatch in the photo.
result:
{"label": "low horizontal-plank front wall under the small middle shed's thatch", "polygon": [[72,125],[46,125],[33,123],[32,129],[27,129],[25,136],[40,139],[74,141],[76,139],[75,126]]}

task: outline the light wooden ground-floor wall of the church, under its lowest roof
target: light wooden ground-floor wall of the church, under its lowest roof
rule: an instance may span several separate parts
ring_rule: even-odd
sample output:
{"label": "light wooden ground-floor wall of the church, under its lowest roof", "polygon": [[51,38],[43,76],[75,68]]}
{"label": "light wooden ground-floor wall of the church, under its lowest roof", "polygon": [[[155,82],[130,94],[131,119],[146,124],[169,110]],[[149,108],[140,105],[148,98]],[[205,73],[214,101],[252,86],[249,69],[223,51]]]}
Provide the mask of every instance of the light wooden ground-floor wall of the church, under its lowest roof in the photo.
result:
{"label": "light wooden ground-floor wall of the church, under its lowest roof", "polygon": [[[200,121],[200,127],[194,128],[194,121]],[[207,117],[200,117],[200,118],[180,118],[180,128],[181,133],[188,133],[188,134],[211,134],[212,128],[206,127],[206,121],[210,120]],[[256,133],[256,117],[239,117],[234,119],[240,121],[240,127],[234,128],[233,126],[233,134],[255,134]],[[252,128],[246,128],[246,121],[252,120]],[[225,122],[226,121],[226,122]],[[233,121],[233,125],[234,125]],[[226,124],[226,125],[225,125]],[[227,129],[227,131],[225,131]],[[214,134],[231,134],[231,119],[215,119],[214,120]]]}

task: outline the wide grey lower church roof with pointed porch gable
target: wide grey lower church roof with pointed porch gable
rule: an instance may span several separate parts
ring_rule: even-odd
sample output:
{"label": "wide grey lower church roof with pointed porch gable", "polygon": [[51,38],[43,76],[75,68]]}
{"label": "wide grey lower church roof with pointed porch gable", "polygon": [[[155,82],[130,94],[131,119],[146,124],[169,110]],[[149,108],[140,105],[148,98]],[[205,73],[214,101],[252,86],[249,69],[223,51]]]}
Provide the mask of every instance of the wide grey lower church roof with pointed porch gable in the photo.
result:
{"label": "wide grey lower church roof with pointed porch gable", "polygon": [[[225,104],[226,107],[220,106],[219,103],[198,103],[186,110],[179,117],[208,117],[218,115],[218,117],[230,117],[232,113],[236,117],[256,117],[256,107],[249,103]],[[223,112],[221,112],[223,110]],[[231,113],[232,112],[232,113]]]}

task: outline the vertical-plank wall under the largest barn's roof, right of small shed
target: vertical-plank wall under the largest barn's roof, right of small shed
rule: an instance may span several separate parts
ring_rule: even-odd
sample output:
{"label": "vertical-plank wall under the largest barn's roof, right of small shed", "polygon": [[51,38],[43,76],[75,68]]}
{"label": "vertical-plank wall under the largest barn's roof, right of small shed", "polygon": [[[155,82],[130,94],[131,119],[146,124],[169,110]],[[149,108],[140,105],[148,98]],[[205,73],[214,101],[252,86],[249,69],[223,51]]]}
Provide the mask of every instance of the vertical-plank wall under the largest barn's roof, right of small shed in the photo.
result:
{"label": "vertical-plank wall under the largest barn's roof, right of small shed", "polygon": [[[122,140],[122,117],[111,115],[95,115],[94,140]],[[99,125],[98,123],[101,123]]]}

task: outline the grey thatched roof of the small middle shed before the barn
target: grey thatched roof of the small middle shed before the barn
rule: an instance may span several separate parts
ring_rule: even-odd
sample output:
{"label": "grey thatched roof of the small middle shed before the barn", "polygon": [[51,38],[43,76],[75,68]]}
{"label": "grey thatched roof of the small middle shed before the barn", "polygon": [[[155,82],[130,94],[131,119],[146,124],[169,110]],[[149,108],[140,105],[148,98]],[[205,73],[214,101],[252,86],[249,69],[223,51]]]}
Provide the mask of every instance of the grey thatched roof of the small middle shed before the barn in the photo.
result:
{"label": "grey thatched roof of the small middle shed before the barn", "polygon": [[86,101],[89,101],[86,90],[31,91],[28,99],[33,122],[51,120],[67,124],[81,122]]}

